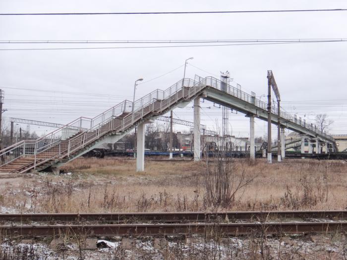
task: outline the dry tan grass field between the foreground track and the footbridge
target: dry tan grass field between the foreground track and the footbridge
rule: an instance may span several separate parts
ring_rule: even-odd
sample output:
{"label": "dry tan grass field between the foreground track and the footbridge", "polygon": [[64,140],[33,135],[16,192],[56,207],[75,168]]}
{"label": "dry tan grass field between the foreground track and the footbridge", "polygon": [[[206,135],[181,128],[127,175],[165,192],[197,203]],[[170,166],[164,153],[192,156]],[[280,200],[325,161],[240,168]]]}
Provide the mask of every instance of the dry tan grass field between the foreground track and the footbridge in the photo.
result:
{"label": "dry tan grass field between the foreground track and the footbridge", "polygon": [[[195,210],[344,209],[347,164],[293,160],[250,165],[237,159],[236,178],[254,178],[241,199],[227,208],[208,208],[203,163],[145,162],[135,172],[129,159],[80,158],[62,169],[72,175],[41,175],[0,183],[0,206],[22,212],[120,212]],[[246,166],[246,167],[245,167]]]}

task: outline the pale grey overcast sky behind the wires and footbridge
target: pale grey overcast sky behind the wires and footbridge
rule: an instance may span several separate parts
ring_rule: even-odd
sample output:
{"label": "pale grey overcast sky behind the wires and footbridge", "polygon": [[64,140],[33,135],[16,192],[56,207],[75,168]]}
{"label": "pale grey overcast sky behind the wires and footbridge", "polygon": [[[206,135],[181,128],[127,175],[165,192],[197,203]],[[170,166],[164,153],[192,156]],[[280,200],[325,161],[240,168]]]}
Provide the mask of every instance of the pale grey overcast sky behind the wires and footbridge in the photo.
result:
{"label": "pale grey overcast sky behind the wires and footbridge", "polygon": [[[347,8],[334,0],[0,0],[1,13],[148,12]],[[347,38],[347,12],[166,14],[95,16],[0,16],[0,40],[222,40]],[[135,46],[133,44],[132,46]],[[0,49],[116,47],[117,44],[0,44]],[[67,123],[95,116],[124,99],[132,100],[134,81],[144,78],[136,97],[166,89],[183,77],[214,76],[229,70],[241,89],[261,97],[272,69],[282,106],[314,121],[326,113],[333,134],[347,134],[347,43],[255,46],[0,51],[0,88],[5,117]],[[178,68],[178,69],[176,69]],[[176,70],[174,70],[176,69]],[[147,82],[169,71],[173,72]],[[44,91],[37,91],[44,90]],[[68,92],[79,93],[71,94]],[[95,95],[86,95],[95,94]],[[262,97],[265,101],[265,97]],[[193,120],[192,105],[175,109],[174,117]],[[211,107],[211,108],[208,108]],[[222,109],[202,104],[202,123],[216,128]],[[249,136],[249,119],[229,116],[233,135]],[[266,134],[256,119],[256,136]],[[25,126],[24,126],[25,127]],[[175,126],[176,130],[182,127]],[[49,129],[31,127],[38,134]]]}

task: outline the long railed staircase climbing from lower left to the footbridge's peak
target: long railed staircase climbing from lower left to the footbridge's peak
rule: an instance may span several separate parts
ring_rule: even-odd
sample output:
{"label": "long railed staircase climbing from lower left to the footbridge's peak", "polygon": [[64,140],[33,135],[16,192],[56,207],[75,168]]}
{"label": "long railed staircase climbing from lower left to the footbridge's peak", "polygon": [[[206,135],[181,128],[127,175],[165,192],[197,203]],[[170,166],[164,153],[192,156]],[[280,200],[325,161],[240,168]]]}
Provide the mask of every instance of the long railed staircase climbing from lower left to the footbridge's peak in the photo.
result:
{"label": "long railed staircase climbing from lower left to the footbridge's peak", "polygon": [[141,121],[165,113],[178,102],[190,101],[205,87],[192,79],[180,80],[167,90],[157,89],[134,104],[125,100],[94,118],[79,117],[37,140],[18,142],[0,151],[0,172],[43,170],[58,161],[68,161],[107,135],[122,135]]}

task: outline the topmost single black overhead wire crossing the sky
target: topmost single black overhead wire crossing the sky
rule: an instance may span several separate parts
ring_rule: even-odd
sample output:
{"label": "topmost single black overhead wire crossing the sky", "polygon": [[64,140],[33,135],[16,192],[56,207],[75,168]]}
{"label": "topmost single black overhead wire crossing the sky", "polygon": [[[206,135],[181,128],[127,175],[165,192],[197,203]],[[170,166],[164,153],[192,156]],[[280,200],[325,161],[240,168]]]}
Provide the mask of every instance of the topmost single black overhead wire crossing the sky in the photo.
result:
{"label": "topmost single black overhead wire crossing the sky", "polygon": [[347,9],[291,9],[291,10],[235,10],[235,11],[183,11],[183,12],[73,12],[73,13],[0,13],[0,15],[124,15],[124,14],[215,14],[215,13],[274,13],[274,12],[326,12]]}

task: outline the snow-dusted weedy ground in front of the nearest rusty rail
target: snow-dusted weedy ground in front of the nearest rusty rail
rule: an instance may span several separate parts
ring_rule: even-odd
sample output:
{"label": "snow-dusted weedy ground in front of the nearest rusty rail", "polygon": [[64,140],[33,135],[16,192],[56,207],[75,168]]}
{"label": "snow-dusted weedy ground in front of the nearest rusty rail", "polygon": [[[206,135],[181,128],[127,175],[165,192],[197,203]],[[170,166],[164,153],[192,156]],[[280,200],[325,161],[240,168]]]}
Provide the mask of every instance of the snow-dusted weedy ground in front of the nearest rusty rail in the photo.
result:
{"label": "snow-dusted weedy ground in front of the nearest rusty rail", "polygon": [[19,243],[7,241],[1,245],[1,256],[23,260],[79,260],[79,259],[249,259],[253,256],[265,259],[346,259],[347,244],[344,236],[283,238],[231,237],[219,243],[193,238],[185,241],[171,241],[163,248],[155,249],[151,239],[135,239],[131,249],[124,249],[122,243],[99,240],[105,247],[82,250],[76,244],[68,244],[63,249],[52,250],[46,243]]}

